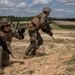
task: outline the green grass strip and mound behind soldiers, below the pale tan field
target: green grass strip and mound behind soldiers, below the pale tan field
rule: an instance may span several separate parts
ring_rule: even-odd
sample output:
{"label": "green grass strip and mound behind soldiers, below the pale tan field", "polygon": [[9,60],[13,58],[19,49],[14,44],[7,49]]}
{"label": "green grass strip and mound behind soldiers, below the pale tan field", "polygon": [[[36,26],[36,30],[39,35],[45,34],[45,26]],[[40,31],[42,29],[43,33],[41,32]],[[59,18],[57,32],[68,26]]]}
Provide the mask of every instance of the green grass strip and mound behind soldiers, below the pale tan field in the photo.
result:
{"label": "green grass strip and mound behind soldiers, below the pale tan field", "polygon": [[[20,22],[19,26],[24,26],[27,25],[28,22]],[[17,25],[17,22],[13,22],[13,27],[15,27],[15,25]],[[50,24],[50,26],[52,27],[53,30],[61,30],[61,29],[68,29],[68,30],[75,30],[75,25],[58,25],[57,23],[53,22],[52,24]]]}

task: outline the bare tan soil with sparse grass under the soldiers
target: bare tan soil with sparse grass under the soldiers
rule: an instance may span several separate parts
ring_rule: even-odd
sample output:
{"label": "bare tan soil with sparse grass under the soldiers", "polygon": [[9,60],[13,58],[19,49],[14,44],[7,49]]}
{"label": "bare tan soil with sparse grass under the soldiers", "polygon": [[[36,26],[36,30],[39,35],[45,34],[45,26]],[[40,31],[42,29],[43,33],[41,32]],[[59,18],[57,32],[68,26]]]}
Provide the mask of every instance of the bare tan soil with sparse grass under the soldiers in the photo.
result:
{"label": "bare tan soil with sparse grass under the soldiers", "polygon": [[23,59],[29,45],[29,36],[19,41],[13,38],[10,62],[4,75],[75,75],[75,31],[54,30],[54,40],[45,33],[43,45],[35,57]]}

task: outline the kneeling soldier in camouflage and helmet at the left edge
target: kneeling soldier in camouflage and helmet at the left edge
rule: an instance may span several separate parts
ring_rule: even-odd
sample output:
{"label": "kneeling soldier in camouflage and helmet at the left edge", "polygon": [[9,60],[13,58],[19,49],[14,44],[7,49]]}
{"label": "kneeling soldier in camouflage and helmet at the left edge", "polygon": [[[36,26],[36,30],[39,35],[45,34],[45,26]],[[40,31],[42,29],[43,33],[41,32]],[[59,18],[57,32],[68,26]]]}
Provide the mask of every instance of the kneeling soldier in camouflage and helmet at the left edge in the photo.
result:
{"label": "kneeling soldier in camouflage and helmet at the left edge", "polygon": [[[23,39],[23,35],[19,35],[18,32],[13,32],[10,26],[11,22],[6,18],[2,18],[0,21],[0,36],[4,39],[8,49],[11,51],[10,44],[12,42],[12,37],[21,40]],[[9,53],[6,50],[3,50],[2,46],[0,45],[0,74],[4,73],[2,67],[9,64],[9,59]]]}

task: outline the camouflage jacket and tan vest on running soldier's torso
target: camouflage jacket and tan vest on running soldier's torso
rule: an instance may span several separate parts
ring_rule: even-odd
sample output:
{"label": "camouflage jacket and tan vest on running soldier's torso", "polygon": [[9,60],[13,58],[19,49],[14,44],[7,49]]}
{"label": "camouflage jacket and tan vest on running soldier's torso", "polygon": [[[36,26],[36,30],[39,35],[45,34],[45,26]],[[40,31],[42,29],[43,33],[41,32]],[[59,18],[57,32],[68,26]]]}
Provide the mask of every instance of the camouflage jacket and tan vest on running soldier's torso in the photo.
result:
{"label": "camouflage jacket and tan vest on running soldier's torso", "polygon": [[[47,22],[48,17],[44,13],[40,13],[37,16],[35,16],[32,20],[31,23],[28,26],[29,30],[34,30],[35,27],[37,30],[41,28],[42,25],[45,25]],[[35,27],[32,25],[32,22],[36,25]]]}

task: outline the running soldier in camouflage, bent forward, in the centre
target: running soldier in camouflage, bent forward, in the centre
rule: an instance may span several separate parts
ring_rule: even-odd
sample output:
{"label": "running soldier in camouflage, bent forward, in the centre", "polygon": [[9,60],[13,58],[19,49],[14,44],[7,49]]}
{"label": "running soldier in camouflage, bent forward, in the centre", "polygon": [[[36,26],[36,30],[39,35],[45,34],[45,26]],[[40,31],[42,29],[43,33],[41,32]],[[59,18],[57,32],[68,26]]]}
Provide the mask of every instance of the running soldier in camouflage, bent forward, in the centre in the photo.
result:
{"label": "running soldier in camouflage, bent forward, in the centre", "polygon": [[[43,44],[43,39],[39,33],[39,29],[43,31],[43,27],[47,25],[47,20],[50,12],[51,9],[49,7],[45,7],[42,13],[35,16],[31,20],[31,23],[28,26],[30,45],[25,52],[24,59],[28,58],[29,56],[35,56],[36,50],[40,47],[40,45]],[[51,35],[53,35],[52,32]]]}

